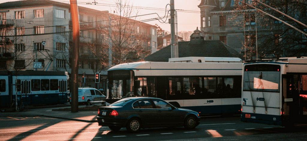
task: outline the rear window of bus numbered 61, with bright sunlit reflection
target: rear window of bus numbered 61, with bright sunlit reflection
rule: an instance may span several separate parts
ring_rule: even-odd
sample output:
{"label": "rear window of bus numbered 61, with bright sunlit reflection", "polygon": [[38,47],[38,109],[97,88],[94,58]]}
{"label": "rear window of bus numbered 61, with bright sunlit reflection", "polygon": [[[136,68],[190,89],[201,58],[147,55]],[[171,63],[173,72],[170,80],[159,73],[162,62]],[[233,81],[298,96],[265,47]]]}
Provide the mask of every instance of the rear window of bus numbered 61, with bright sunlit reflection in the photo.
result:
{"label": "rear window of bus numbered 61, with bright sunlit reflection", "polygon": [[246,65],[244,68],[243,91],[279,92],[279,83],[279,65]]}

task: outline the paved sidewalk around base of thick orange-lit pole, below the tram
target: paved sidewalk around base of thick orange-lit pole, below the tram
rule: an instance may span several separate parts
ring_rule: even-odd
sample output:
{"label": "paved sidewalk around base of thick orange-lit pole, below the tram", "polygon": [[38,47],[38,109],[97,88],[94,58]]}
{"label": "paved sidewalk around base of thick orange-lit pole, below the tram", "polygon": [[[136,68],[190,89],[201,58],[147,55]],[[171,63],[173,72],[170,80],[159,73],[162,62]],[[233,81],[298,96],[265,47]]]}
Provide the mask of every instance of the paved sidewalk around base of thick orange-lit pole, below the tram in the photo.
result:
{"label": "paved sidewalk around base of thick orange-lit pole, below the tram", "polygon": [[25,112],[2,112],[0,117],[52,117],[72,121],[82,121],[82,122],[97,122],[98,109],[93,110],[79,110],[79,112],[72,113],[71,110],[52,110],[60,108],[70,108],[70,104],[57,105],[49,108],[33,109],[30,108]]}

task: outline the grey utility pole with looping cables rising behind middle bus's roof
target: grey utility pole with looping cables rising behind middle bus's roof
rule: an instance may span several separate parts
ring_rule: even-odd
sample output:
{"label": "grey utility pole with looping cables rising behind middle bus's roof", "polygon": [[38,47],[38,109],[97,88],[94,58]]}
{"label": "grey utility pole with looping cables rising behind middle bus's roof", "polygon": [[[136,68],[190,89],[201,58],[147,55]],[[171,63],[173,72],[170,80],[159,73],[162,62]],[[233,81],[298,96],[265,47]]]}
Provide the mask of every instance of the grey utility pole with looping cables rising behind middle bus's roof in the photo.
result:
{"label": "grey utility pole with looping cables rising behind middle bus's roof", "polygon": [[178,58],[178,48],[176,44],[176,35],[175,35],[175,2],[174,0],[170,0],[171,6],[171,54],[172,58]]}

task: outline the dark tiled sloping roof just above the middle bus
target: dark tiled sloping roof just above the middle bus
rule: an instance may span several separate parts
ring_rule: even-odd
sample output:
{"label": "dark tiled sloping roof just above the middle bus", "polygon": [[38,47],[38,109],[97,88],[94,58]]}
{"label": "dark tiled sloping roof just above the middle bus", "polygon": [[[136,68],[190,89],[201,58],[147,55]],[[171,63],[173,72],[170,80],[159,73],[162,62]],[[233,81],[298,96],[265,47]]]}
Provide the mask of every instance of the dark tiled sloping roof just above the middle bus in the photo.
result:
{"label": "dark tiled sloping roof just above the middle bus", "polygon": [[[189,41],[178,42],[178,57],[230,57],[241,58],[242,55],[220,40],[205,40],[201,44]],[[145,61],[168,62],[171,58],[171,46],[166,46],[144,58]]]}

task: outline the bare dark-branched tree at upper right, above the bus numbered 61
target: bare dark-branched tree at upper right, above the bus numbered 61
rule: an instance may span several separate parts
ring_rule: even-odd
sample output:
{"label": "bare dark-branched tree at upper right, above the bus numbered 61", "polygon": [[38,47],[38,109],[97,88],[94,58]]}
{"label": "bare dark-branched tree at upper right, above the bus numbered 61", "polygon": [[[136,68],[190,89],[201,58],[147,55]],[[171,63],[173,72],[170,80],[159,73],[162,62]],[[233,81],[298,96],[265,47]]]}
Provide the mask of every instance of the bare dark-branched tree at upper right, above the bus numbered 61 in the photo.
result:
{"label": "bare dark-branched tree at upper right, above the bus numbered 61", "polygon": [[[279,11],[297,19],[298,21],[307,24],[307,0],[271,0],[265,3]],[[248,1],[248,4],[265,11],[291,25],[306,32],[306,27],[297,22],[283,16],[282,14],[262,5],[257,2]],[[281,57],[300,57],[307,55],[307,36],[296,31],[290,26],[283,24],[265,13],[255,11],[250,6],[235,2],[235,10],[233,19],[242,19],[237,23],[248,32],[245,34],[245,43],[247,58],[251,58],[256,54],[256,46],[259,52],[266,54],[277,51]],[[242,18],[244,17],[244,18]],[[249,22],[255,22],[258,28],[252,29],[247,25]],[[256,36],[257,35],[257,36]],[[256,42],[257,39],[257,42]]]}

